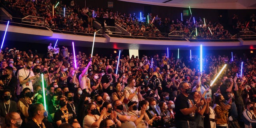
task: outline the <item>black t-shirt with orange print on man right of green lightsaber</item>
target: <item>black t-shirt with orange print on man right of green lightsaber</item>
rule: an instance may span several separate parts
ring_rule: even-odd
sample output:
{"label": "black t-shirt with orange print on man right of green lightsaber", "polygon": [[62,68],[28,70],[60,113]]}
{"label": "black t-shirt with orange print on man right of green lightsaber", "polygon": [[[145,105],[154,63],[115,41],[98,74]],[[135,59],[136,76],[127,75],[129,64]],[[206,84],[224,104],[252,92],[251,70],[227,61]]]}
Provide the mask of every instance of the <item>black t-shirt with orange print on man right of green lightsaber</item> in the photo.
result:
{"label": "black t-shirt with orange print on man right of green lightsaber", "polygon": [[[66,114],[67,111],[64,111],[64,113]],[[68,109],[68,123],[73,122],[75,118],[75,114],[72,110]],[[62,123],[66,122],[65,116],[62,113],[62,111],[60,109],[56,110],[56,112],[54,113],[54,121],[57,122],[61,120]]]}

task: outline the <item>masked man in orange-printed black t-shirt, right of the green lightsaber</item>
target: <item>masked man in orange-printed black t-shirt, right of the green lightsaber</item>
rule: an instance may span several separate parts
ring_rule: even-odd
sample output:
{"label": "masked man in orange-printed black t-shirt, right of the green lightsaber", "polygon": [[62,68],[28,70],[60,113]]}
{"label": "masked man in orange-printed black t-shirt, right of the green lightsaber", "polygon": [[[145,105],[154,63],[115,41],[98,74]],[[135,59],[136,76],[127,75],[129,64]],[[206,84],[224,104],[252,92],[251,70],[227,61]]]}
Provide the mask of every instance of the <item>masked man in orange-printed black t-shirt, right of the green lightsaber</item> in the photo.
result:
{"label": "masked man in orange-printed black t-shirt, right of the green lightsaber", "polygon": [[58,96],[60,109],[56,110],[54,113],[54,121],[59,127],[62,123],[68,123],[72,121],[77,121],[75,114],[72,110],[67,108],[67,98],[65,96]]}

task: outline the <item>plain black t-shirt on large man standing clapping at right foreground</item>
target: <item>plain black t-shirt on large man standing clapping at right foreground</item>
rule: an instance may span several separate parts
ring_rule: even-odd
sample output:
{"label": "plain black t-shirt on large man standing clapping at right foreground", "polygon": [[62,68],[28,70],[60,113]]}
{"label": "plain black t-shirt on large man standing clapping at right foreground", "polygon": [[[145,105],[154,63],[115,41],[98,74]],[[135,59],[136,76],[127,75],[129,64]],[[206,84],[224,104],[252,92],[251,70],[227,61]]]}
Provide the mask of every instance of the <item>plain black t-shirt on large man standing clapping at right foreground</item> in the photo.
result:
{"label": "plain black t-shirt on large man standing clapping at right foreground", "polygon": [[180,112],[180,109],[184,109],[184,108],[191,108],[192,106],[194,106],[194,101],[193,99],[188,96],[184,96],[183,94],[180,94],[175,102],[175,120],[189,120],[189,121],[194,121],[195,120],[195,112],[188,114],[188,115],[184,115],[182,114],[182,112]]}

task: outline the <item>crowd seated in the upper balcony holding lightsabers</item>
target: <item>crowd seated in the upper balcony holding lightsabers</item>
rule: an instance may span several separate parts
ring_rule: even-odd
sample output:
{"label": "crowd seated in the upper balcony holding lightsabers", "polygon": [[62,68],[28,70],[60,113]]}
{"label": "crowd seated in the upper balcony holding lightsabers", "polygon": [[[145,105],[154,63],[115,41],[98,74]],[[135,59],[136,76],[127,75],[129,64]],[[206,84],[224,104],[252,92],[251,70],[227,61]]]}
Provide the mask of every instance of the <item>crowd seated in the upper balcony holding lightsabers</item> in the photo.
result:
{"label": "crowd seated in the upper balcony holding lightsabers", "polygon": [[[183,21],[179,19],[170,20],[170,18],[162,19],[158,15],[153,16],[152,13],[148,14],[149,19],[144,14],[142,18],[139,18],[135,13],[125,14],[113,12],[108,9],[104,10],[103,8],[80,7],[73,0],[70,4],[62,3],[62,1],[59,4],[57,2],[52,4],[50,0],[4,0],[1,2],[10,10],[20,13],[23,17],[32,15],[44,18],[27,17],[25,20],[31,22],[31,24],[72,32],[94,33],[96,29],[92,25],[95,18],[115,19],[116,23],[130,32],[132,36],[168,37],[168,33],[170,32],[182,31],[181,34],[172,36],[181,35],[185,38],[227,39],[231,38],[232,34],[237,34],[240,31],[255,31],[256,28],[254,14],[250,16],[250,20],[246,20],[244,23],[241,23],[238,16],[234,14],[232,28],[224,29],[221,23],[212,23],[207,19],[206,23],[202,19],[194,21],[192,16],[190,19]],[[53,6],[55,7],[54,14],[52,14]],[[247,24],[248,22],[250,24]],[[230,34],[230,31],[232,34]]]}

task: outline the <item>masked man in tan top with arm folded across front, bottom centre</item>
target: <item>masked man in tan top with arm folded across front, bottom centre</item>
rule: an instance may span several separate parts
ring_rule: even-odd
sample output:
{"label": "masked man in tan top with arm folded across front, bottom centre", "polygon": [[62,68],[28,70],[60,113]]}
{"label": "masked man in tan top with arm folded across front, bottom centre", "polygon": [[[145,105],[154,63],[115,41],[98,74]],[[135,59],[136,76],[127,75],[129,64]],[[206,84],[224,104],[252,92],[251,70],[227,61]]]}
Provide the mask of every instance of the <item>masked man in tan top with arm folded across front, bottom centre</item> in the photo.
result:
{"label": "masked man in tan top with arm folded across front, bottom centre", "polygon": [[121,121],[121,128],[136,128],[134,122],[136,122],[136,117],[124,111],[124,106],[120,100],[115,100],[113,103],[116,114]]}

